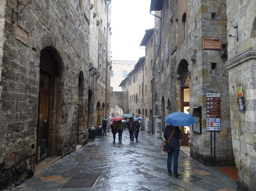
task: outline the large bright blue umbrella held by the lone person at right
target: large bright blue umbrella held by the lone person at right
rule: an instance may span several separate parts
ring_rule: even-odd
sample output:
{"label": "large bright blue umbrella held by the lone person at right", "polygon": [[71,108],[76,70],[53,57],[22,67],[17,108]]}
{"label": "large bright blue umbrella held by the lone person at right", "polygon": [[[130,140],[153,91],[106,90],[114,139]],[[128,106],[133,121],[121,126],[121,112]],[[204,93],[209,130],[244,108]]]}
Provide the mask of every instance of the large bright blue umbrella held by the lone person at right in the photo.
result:
{"label": "large bright blue umbrella held by the lone person at right", "polygon": [[165,123],[175,126],[189,126],[195,122],[195,118],[184,112],[173,112],[165,116]]}

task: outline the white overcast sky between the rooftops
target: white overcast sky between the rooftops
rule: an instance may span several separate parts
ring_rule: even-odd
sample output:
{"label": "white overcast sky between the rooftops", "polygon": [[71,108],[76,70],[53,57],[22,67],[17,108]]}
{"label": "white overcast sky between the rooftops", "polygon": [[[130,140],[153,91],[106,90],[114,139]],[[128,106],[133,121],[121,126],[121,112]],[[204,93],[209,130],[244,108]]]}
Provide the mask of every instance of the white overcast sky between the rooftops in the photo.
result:
{"label": "white overcast sky between the rooftops", "polygon": [[139,48],[145,30],[154,28],[150,0],[111,0],[111,4],[111,59],[138,61],[145,56]]}

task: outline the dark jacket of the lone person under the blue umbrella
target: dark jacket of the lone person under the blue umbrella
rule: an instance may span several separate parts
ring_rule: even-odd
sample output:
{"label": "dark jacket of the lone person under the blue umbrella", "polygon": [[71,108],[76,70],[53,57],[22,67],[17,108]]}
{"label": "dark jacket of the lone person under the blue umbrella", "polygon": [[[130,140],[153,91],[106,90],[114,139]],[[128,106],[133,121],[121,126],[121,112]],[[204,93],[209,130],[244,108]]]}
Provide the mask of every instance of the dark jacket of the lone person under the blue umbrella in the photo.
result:
{"label": "dark jacket of the lone person under the blue umbrella", "polygon": [[[168,140],[174,131],[174,126],[166,125],[164,131],[164,138]],[[174,148],[180,148],[180,141],[182,139],[182,132],[180,131],[180,127],[176,127],[174,134],[172,134],[171,139],[169,141],[169,146]]]}

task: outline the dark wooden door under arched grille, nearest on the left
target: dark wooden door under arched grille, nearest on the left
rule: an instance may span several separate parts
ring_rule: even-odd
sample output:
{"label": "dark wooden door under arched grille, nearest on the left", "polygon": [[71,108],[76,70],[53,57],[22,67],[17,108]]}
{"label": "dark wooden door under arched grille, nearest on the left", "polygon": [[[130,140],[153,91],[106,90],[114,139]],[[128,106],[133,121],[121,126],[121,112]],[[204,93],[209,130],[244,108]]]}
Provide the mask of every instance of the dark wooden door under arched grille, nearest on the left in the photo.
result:
{"label": "dark wooden door under arched grille, nearest on the left", "polygon": [[49,155],[50,103],[52,81],[54,81],[52,79],[56,79],[59,74],[58,62],[50,47],[41,50],[39,68],[36,163]]}

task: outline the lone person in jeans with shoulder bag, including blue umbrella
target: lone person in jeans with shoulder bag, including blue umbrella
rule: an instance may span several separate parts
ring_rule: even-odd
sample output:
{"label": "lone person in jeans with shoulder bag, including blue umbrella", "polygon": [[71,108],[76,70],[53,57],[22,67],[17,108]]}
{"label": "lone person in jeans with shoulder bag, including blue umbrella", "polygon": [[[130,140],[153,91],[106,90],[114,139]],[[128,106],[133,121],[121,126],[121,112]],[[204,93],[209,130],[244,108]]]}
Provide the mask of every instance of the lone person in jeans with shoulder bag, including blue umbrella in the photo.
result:
{"label": "lone person in jeans with shoulder bag, including blue umbrella", "polygon": [[163,137],[169,140],[169,152],[167,158],[168,175],[171,175],[171,159],[174,156],[174,176],[180,176],[178,173],[178,157],[180,153],[180,141],[182,139],[182,132],[178,126],[189,126],[195,123],[195,118],[184,112],[173,112],[165,116],[166,125]]}

